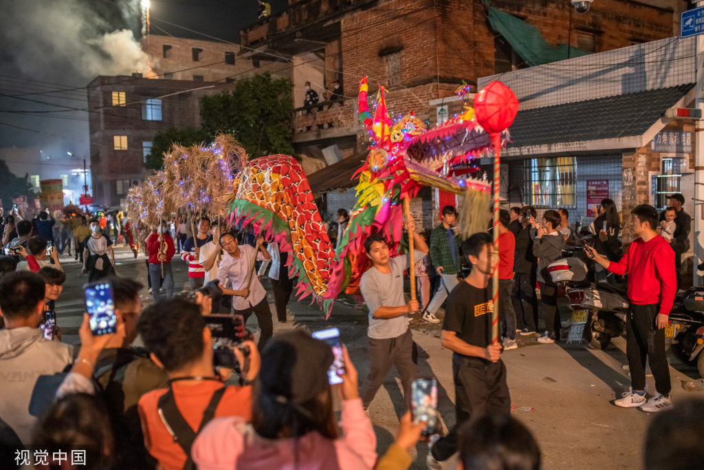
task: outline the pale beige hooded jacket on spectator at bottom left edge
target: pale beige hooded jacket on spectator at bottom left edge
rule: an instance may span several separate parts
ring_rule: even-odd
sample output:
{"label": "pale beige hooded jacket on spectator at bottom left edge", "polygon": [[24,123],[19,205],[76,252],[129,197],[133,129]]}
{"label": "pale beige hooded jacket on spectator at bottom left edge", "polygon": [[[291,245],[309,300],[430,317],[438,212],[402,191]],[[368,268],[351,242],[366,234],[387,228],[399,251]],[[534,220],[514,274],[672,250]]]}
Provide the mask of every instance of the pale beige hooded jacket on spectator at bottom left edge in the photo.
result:
{"label": "pale beige hooded jacket on spectator at bottom left edge", "polygon": [[0,418],[30,444],[37,422],[29,406],[37,377],[61,372],[73,361],[73,347],[44,338],[41,328],[0,330]]}

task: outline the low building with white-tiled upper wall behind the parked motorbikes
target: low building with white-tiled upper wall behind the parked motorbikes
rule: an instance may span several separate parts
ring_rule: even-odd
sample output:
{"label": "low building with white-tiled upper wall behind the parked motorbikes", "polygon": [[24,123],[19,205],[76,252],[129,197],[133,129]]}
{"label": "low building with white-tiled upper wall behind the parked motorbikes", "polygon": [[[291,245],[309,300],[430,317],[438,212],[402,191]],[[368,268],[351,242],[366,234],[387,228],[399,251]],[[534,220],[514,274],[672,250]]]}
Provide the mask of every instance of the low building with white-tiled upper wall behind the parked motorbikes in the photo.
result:
{"label": "low building with white-tiled upper wall behind the parked motorbikes", "polygon": [[539,213],[565,208],[585,226],[594,204],[613,199],[624,245],[638,204],[661,211],[667,194],[680,192],[693,216],[694,121],[665,113],[694,106],[694,68],[695,38],[670,37],[480,79],[481,87],[500,78],[520,101],[502,153],[502,195]]}

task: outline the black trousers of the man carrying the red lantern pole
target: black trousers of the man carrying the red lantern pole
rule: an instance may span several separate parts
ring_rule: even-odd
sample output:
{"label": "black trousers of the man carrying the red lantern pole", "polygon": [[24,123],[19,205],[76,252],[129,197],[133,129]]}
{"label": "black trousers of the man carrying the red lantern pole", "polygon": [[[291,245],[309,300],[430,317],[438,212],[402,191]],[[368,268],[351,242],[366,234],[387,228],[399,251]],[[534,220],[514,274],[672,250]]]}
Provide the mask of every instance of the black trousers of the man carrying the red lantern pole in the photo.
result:
{"label": "black trousers of the man carrying the red lantern pole", "polygon": [[479,357],[460,354],[452,356],[452,373],[455,381],[455,426],[444,438],[436,441],[433,457],[442,462],[458,450],[458,433],[463,424],[487,412],[510,414],[511,397],[506,384],[506,366]]}

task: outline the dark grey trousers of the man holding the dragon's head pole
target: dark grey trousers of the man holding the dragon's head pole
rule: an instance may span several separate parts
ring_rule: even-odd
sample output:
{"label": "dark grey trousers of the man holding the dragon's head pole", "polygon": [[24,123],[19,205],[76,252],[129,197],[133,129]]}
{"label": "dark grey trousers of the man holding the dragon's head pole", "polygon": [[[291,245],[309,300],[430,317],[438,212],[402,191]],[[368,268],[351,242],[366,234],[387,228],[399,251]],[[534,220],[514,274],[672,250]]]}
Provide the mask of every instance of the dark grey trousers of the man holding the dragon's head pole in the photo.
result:
{"label": "dark grey trousers of the man holding the dragon's head pole", "polygon": [[396,364],[398,375],[401,376],[403,385],[403,398],[406,400],[406,409],[410,409],[410,384],[417,376],[417,358],[413,354],[413,335],[410,328],[396,338],[369,338],[369,356],[371,369],[365,381],[360,396],[362,406],[367,408],[374,400],[374,395],[386,380],[391,366]]}

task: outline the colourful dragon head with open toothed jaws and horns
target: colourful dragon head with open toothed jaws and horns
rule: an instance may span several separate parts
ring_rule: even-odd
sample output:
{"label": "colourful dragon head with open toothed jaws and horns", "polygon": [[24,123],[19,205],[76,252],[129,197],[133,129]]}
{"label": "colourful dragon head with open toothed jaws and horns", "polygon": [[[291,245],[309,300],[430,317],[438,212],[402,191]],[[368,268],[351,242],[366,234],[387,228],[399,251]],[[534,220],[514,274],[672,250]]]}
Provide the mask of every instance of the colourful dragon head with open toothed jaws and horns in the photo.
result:
{"label": "colourful dragon head with open toothed jaws and horns", "polygon": [[[372,147],[361,171],[370,179],[386,179],[401,184],[401,192],[415,194],[421,186],[439,187],[463,194],[467,189],[487,188],[486,180],[471,178],[478,170],[472,162],[491,148],[491,137],[474,117],[474,110],[427,129],[413,112],[393,123],[386,110],[386,90],[379,89],[375,114],[367,108],[367,78],[360,82],[358,113],[360,122],[372,137]],[[505,137],[503,142],[505,142]]]}

